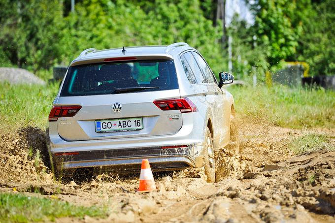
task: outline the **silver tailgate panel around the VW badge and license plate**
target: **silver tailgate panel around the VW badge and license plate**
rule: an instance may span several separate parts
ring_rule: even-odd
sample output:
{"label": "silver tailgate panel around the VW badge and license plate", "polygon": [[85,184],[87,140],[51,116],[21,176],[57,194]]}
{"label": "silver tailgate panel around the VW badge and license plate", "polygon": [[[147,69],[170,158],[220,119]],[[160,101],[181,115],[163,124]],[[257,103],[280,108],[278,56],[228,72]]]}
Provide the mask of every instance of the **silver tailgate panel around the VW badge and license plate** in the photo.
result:
{"label": "silver tailgate panel around the VW badge and license plate", "polygon": [[[180,110],[163,111],[153,103],[154,100],[165,99],[167,96],[168,98],[179,98],[179,90],[116,95],[61,96],[57,105],[81,105],[82,108],[73,117],[58,118],[58,133],[67,141],[174,134],[182,127]],[[113,111],[112,105],[115,102],[122,105],[120,112]],[[131,118],[142,118],[143,128],[132,131],[96,131],[96,121],[128,120]]]}

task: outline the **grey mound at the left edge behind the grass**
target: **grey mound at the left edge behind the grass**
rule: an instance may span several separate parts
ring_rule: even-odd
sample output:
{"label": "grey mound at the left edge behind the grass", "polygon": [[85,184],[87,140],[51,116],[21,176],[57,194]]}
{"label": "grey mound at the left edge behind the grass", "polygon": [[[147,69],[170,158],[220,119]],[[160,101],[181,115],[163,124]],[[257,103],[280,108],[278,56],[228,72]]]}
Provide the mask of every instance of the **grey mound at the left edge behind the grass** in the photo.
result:
{"label": "grey mound at the left edge behind the grass", "polygon": [[28,70],[12,67],[0,67],[0,81],[8,81],[11,84],[40,84],[45,82]]}

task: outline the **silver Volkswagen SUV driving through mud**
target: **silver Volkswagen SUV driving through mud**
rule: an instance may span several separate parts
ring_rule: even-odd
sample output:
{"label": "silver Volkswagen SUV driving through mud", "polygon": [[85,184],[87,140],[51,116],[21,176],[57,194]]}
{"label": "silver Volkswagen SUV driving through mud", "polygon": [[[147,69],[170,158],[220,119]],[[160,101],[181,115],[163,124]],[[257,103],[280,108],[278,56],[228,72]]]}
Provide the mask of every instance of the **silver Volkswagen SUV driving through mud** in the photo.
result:
{"label": "silver Volkswagen SUV driving through mud", "polygon": [[233,75],[213,72],[187,43],[87,49],[69,65],[49,115],[50,153],[63,176],[204,166],[230,142]]}

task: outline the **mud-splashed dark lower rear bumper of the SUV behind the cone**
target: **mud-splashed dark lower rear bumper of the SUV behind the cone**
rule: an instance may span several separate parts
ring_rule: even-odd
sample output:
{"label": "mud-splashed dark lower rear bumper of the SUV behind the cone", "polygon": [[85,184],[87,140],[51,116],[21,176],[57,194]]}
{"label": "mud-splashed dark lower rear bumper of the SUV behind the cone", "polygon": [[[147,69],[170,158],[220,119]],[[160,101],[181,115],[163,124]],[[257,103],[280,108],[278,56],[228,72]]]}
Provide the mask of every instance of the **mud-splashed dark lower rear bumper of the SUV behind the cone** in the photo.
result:
{"label": "mud-splashed dark lower rear bumper of the SUV behind the cone", "polygon": [[149,159],[153,171],[177,170],[188,166],[199,166],[201,156],[194,151],[202,150],[202,144],[162,149],[134,148],[121,150],[81,151],[75,155],[52,153],[58,170],[95,167],[95,172],[118,171],[134,172],[140,170],[142,159]]}

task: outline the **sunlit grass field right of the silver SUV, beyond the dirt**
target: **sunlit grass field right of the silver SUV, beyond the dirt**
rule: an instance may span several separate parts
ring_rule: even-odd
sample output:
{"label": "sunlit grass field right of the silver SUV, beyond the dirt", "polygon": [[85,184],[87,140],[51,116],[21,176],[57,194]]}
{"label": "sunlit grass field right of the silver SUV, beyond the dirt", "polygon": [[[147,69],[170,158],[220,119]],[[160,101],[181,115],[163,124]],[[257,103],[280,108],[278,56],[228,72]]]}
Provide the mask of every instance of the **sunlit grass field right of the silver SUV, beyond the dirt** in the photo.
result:
{"label": "sunlit grass field right of the silver SUV, beyond the dirt", "polygon": [[286,86],[228,89],[238,114],[291,127],[335,127],[335,91]]}

